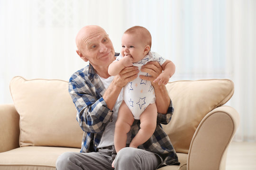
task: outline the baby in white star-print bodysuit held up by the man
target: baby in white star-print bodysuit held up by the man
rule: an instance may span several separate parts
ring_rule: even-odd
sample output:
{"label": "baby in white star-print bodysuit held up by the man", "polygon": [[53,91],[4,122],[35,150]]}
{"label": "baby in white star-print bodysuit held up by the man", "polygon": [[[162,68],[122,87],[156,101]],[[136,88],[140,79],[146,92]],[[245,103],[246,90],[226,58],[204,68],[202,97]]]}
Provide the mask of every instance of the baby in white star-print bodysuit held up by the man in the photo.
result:
{"label": "baby in white star-print bodysuit held up by the man", "polygon": [[[175,72],[174,63],[151,52],[151,34],[142,26],[129,28],[122,36],[121,56],[109,66],[109,74],[116,76],[126,67],[141,66],[149,61],[158,61],[163,72],[154,80],[154,83],[167,84],[169,78]],[[139,75],[150,76],[145,72]],[[137,135],[130,142],[129,147],[137,148],[145,143],[155,132],[157,109],[155,105],[155,90],[150,81],[142,80],[137,76],[123,89],[123,102],[119,107],[118,118],[115,127],[114,145],[116,152],[126,147],[127,133],[133,124],[134,119],[140,120],[140,129]]]}

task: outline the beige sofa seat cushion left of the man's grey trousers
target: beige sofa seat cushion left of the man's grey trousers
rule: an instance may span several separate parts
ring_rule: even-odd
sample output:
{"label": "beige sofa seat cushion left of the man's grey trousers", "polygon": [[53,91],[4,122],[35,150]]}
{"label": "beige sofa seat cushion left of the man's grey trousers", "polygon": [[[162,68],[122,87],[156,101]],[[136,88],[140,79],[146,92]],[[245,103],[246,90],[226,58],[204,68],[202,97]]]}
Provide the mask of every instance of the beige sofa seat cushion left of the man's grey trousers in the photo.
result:
{"label": "beige sofa seat cushion left of the man's grey trousers", "polygon": [[26,146],[0,153],[1,170],[55,170],[55,162],[64,152],[79,148]]}

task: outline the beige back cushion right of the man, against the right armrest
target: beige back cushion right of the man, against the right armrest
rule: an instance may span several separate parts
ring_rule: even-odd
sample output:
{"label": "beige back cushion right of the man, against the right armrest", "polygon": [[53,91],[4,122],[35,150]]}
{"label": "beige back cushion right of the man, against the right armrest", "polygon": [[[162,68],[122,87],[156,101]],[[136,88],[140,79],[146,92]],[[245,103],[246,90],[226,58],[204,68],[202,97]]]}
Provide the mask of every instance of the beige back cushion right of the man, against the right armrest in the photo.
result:
{"label": "beige back cushion right of the man, against the right armrest", "polygon": [[163,127],[175,151],[188,153],[199,123],[211,110],[229,101],[234,84],[228,79],[176,81],[168,83],[166,89],[173,101],[174,114]]}

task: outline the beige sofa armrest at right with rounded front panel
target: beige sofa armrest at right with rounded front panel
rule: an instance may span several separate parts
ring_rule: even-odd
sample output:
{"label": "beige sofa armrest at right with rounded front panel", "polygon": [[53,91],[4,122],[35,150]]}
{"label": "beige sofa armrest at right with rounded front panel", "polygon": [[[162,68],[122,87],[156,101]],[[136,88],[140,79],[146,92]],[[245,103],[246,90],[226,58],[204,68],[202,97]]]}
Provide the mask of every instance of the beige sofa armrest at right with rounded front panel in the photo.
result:
{"label": "beige sofa armrest at right with rounded front panel", "polygon": [[192,138],[187,170],[225,170],[228,146],[238,125],[239,115],[232,107],[210,111]]}

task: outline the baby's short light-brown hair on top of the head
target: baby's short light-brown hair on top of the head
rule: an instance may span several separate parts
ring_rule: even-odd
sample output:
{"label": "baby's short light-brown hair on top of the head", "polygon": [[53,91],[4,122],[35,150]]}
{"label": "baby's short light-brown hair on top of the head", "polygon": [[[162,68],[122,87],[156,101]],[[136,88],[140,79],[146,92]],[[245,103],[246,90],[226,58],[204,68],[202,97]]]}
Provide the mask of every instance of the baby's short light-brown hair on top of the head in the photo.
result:
{"label": "baby's short light-brown hair on top of the head", "polygon": [[152,38],[150,32],[143,26],[133,26],[124,32],[124,34],[138,34],[141,40],[144,40],[146,45],[151,48]]}

